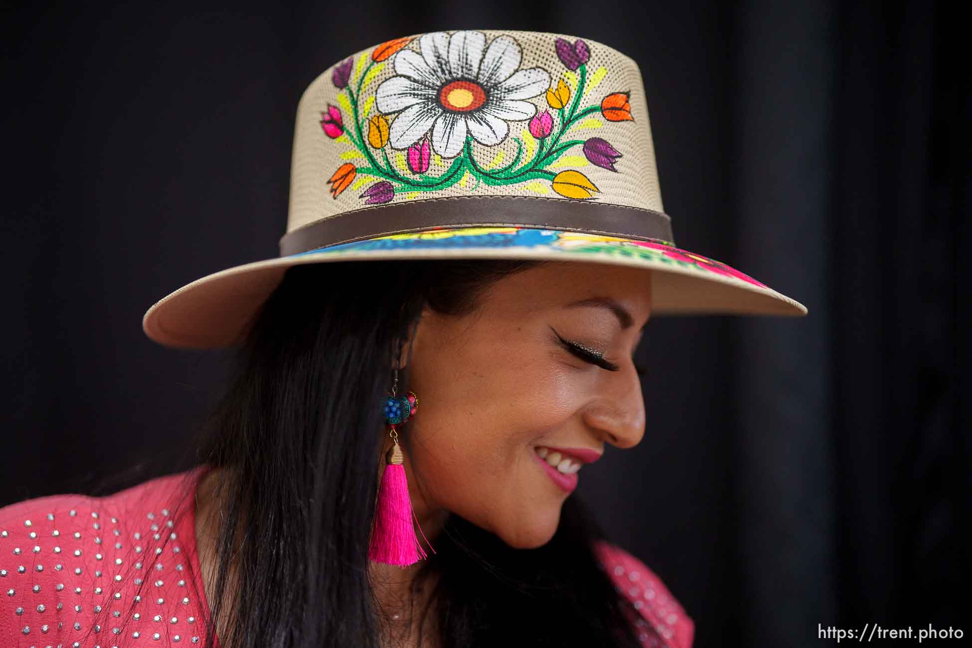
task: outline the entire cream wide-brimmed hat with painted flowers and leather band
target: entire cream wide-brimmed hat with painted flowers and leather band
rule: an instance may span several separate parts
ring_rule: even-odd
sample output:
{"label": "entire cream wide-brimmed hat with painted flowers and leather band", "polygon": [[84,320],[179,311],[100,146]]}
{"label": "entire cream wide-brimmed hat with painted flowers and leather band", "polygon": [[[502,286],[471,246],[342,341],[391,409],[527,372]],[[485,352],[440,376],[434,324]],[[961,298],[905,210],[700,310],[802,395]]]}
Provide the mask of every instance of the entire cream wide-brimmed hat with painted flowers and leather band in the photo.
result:
{"label": "entire cream wide-brimmed hat with painted flowers and leather band", "polygon": [[175,290],[143,328],[167,346],[228,346],[291,266],[418,258],[646,268],[653,315],[807,313],[675,247],[634,60],[574,36],[485,29],[398,38],[314,80],[297,107],[280,256]]}

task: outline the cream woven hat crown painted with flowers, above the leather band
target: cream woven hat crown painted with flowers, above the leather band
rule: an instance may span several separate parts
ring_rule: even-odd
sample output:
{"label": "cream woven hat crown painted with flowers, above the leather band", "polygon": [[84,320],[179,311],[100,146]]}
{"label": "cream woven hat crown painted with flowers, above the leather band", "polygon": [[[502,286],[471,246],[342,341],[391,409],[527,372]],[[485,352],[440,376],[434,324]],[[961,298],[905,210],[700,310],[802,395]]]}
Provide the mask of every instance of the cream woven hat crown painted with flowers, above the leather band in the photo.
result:
{"label": "cream woven hat crown painted with flowers, above the leather band", "polygon": [[304,91],[288,232],[473,196],[663,213],[637,63],[564,34],[441,31],[358,51]]}

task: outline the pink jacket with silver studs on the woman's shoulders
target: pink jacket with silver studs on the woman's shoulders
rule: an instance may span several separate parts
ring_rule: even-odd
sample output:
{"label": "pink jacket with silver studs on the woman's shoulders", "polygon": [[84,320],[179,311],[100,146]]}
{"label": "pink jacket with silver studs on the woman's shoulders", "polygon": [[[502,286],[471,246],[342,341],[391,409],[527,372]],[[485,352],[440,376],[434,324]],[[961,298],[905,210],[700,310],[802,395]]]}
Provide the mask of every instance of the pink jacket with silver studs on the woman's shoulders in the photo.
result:
{"label": "pink jacket with silver studs on the woman's shoulders", "polygon": [[[51,495],[0,508],[0,646],[202,645],[210,611],[191,495],[207,469],[107,497]],[[694,624],[661,580],[619,547],[597,551],[641,612],[632,623],[642,645],[691,646]]]}

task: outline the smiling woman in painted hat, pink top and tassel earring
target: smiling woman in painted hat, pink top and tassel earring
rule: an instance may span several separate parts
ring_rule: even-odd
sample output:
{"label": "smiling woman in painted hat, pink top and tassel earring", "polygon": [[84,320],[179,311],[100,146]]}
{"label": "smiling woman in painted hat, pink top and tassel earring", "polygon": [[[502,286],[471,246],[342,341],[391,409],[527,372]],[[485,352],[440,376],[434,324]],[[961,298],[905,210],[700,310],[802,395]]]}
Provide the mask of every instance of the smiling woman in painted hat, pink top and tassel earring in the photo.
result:
{"label": "smiling woman in painted hat, pink top and tassel earring", "polygon": [[631,59],[556,34],[318,78],[281,256],[145,317],[240,345],[197,465],[0,510],[3,645],[691,645],[577,471],[642,439],[653,314],[806,309],[674,247],[646,122]]}

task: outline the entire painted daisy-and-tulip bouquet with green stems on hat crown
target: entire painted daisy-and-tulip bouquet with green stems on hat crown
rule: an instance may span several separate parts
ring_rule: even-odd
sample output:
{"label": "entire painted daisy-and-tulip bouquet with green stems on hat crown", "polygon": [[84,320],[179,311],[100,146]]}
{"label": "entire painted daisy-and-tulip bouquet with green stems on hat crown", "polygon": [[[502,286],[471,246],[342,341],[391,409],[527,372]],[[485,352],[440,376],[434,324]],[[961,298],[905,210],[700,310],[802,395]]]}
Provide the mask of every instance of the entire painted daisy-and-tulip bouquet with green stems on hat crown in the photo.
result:
{"label": "entire painted daisy-and-tulip bouquet with green stems on hat crown", "polygon": [[[593,99],[608,67],[588,70],[592,53],[585,42],[561,38],[551,50],[568,68],[554,86],[546,69],[520,69],[524,51],[513,36],[489,41],[480,31],[393,39],[337,63],[331,79],[340,109],[328,104],[321,125],[349,147],[340,159],[360,163],[338,169],[329,181],[331,193],[336,197],[352,182],[354,188],[374,183],[359,196],[373,205],[457,186],[471,193],[480,186],[519,185],[541,195],[597,200],[600,171],[563,167],[618,173],[621,153],[603,138],[580,133],[605,125],[597,118],[634,120],[629,93]],[[394,75],[378,83],[388,71]],[[533,99],[544,94],[540,112]],[[513,121],[526,123],[514,128]],[[510,146],[497,146],[507,138]],[[361,180],[355,182],[356,175]]]}

